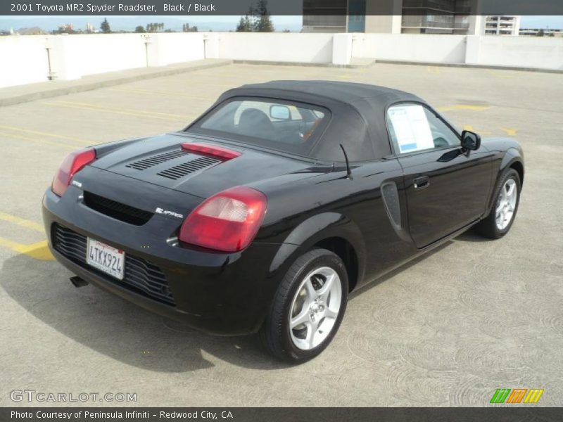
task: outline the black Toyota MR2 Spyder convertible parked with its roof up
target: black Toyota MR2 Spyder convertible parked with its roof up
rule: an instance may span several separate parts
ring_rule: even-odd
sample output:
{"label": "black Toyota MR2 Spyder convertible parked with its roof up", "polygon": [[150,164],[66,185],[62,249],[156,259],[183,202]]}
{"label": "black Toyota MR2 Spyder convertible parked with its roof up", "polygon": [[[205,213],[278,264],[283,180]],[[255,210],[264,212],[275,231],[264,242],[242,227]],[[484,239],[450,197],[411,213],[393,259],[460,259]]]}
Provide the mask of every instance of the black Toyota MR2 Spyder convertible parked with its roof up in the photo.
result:
{"label": "black Toyota MR2 Spyder convertible parked with its roof up", "polygon": [[70,154],[43,215],[75,286],[301,362],[350,291],[471,226],[504,236],[523,181],[517,142],[481,143],[417,96],[279,81],[182,131]]}

